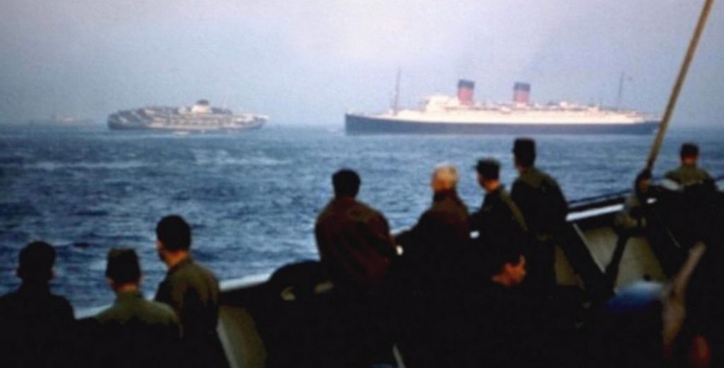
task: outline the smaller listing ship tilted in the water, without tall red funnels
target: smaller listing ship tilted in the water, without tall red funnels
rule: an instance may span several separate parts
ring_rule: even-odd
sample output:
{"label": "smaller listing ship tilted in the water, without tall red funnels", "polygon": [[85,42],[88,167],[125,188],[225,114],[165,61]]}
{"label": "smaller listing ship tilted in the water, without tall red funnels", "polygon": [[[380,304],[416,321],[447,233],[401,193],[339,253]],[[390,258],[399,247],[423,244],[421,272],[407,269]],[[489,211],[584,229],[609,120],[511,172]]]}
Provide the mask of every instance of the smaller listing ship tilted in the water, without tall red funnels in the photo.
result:
{"label": "smaller listing ship tilted in the water, without tall red funnels", "polygon": [[159,130],[173,132],[242,131],[261,128],[268,116],[233,114],[227,108],[198,100],[191,107],[153,106],[118,111],[108,116],[110,129]]}

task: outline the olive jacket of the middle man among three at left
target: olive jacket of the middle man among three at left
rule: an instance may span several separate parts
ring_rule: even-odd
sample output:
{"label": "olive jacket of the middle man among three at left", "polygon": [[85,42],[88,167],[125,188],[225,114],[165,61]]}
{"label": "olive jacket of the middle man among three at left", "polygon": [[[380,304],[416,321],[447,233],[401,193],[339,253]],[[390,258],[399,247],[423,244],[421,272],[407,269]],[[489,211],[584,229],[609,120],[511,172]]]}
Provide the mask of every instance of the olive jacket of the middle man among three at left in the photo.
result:
{"label": "olive jacket of the middle man among three at left", "polygon": [[177,367],[180,325],[166,304],[146,301],[138,291],[119,293],[95,320],[93,366]]}

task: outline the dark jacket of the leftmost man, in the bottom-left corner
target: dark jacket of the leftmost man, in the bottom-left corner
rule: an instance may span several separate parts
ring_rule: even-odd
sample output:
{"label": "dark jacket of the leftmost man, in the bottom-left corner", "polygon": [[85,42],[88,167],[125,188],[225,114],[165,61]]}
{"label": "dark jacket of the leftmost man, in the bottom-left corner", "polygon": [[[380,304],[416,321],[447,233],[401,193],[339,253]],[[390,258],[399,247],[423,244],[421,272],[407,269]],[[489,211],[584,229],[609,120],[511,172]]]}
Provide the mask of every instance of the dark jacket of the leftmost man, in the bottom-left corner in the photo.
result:
{"label": "dark jacket of the leftmost man, in the bottom-left corner", "polygon": [[70,367],[73,309],[47,284],[0,297],[0,367]]}

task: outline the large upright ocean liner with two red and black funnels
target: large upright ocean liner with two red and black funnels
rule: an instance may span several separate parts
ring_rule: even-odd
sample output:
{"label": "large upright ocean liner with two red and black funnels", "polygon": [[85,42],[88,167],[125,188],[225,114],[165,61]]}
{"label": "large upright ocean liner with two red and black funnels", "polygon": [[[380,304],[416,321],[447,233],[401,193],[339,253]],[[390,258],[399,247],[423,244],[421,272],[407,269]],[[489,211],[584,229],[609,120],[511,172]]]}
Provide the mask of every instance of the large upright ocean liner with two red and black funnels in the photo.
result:
{"label": "large upright ocean liner with two red and black funnels", "polygon": [[[509,103],[473,100],[475,82],[460,80],[458,95],[432,95],[420,109],[346,114],[348,134],[651,134],[660,118],[639,111],[578,103],[533,103],[531,85],[516,82]],[[396,100],[397,98],[395,98]]]}

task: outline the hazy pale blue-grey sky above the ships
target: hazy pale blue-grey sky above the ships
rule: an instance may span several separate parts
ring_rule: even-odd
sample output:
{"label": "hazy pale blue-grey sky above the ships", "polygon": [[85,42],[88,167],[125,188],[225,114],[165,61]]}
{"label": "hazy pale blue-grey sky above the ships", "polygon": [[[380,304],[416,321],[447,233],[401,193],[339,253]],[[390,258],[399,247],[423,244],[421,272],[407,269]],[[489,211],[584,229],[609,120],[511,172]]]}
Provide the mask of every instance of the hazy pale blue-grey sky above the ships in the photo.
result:
{"label": "hazy pale blue-grey sky above the ships", "polygon": [[[476,98],[623,102],[660,113],[703,0],[3,0],[0,120],[199,98],[277,124],[476,81]],[[673,124],[724,124],[724,4],[715,3]]]}

